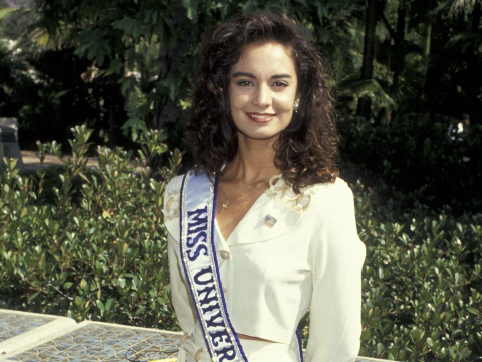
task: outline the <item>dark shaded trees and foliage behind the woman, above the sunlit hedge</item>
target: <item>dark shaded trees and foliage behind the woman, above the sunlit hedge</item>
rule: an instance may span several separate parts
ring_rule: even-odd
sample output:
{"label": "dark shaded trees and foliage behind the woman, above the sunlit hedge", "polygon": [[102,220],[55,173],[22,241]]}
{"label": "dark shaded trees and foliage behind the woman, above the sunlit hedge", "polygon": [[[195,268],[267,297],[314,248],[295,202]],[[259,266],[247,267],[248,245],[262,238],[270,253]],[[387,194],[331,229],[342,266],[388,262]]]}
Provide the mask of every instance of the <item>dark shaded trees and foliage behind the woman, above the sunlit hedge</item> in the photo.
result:
{"label": "dark shaded trees and foliage behind the woman, above the sunlit hedge", "polygon": [[0,117],[18,119],[22,149],[55,139],[69,152],[79,124],[96,144],[135,148],[162,128],[170,149],[185,148],[200,37],[270,7],[298,19],[332,64],[345,177],[411,202],[480,207],[478,0],[0,0]]}

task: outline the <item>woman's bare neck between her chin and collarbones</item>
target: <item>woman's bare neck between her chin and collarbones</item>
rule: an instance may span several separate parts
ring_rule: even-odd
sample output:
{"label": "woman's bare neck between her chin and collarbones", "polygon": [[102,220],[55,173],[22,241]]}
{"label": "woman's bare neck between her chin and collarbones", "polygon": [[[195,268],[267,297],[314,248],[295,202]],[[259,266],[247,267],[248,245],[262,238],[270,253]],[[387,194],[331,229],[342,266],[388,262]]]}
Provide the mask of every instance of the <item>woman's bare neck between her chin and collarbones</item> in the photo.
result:
{"label": "woman's bare neck between her chin and collarbones", "polygon": [[275,167],[273,145],[278,139],[249,139],[238,133],[238,149],[234,159],[226,166],[224,178],[254,184],[267,180],[280,172]]}

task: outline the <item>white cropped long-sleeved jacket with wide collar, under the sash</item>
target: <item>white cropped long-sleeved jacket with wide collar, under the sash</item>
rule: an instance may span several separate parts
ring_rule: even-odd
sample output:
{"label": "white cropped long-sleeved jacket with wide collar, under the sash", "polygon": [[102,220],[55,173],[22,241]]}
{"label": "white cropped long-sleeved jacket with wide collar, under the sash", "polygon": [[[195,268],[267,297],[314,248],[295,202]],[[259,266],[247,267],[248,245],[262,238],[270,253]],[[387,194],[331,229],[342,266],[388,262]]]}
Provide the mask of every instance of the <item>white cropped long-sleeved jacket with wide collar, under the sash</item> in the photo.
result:
{"label": "white cropped long-sleeved jacket with wide collar, under the sash", "polygon": [[[167,185],[172,302],[179,325],[197,323],[179,257],[182,176]],[[268,219],[276,222],[269,226]],[[306,362],[353,362],[361,332],[361,269],[365,245],[356,233],[353,195],[337,178],[294,194],[279,176],[224,240],[215,245],[227,310],[237,333],[291,344],[310,308]]]}

